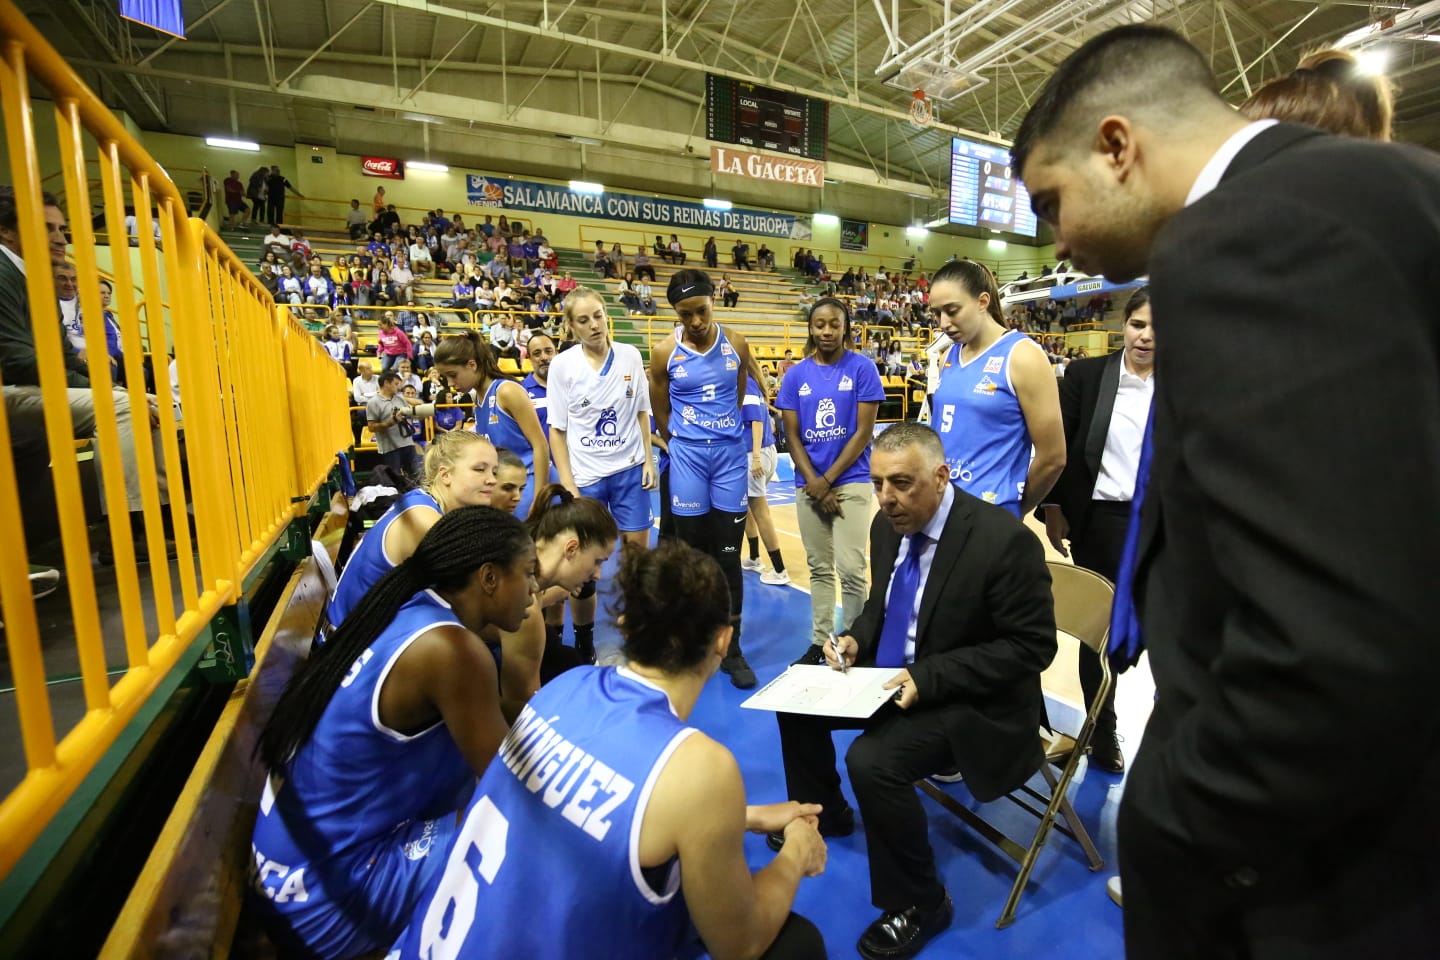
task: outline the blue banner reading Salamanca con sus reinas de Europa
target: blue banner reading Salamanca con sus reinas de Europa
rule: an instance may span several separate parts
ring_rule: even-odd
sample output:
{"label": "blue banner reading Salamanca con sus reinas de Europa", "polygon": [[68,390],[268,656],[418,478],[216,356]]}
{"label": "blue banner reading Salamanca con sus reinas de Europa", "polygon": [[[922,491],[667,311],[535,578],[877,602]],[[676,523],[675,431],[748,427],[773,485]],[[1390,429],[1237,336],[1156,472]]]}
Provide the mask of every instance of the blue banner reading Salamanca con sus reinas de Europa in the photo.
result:
{"label": "blue banner reading Salamanca con sus reinas de Europa", "polygon": [[523,210],[527,213],[564,213],[598,220],[628,220],[651,223],[667,229],[698,229],[724,233],[779,236],[792,240],[811,239],[811,225],[805,217],[766,210],[711,210],[691,200],[667,200],[635,193],[575,193],[557,183],[485,177],[478,173],[465,177],[465,199],[472,207]]}

